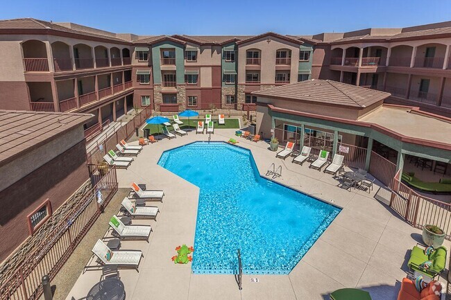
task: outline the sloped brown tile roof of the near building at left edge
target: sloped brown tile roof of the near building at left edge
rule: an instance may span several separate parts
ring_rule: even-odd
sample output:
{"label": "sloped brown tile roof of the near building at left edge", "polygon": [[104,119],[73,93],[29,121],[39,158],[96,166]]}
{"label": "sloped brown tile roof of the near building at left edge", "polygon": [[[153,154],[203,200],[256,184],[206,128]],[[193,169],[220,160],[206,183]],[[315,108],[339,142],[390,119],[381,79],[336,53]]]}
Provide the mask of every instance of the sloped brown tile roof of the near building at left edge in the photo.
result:
{"label": "sloped brown tile roof of the near building at left edge", "polygon": [[0,109],[0,166],[67,130],[83,125],[92,116]]}

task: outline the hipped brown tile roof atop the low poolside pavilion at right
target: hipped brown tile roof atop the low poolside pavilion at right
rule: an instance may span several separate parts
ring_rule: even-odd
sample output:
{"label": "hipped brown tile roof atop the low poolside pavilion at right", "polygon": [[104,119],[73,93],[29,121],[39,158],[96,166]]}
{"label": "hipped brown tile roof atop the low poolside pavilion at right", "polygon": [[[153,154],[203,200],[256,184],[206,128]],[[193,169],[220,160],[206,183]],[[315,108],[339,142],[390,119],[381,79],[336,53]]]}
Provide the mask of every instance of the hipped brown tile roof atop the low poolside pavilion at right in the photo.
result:
{"label": "hipped brown tile roof atop the low poolside pavilion at right", "polygon": [[286,98],[357,108],[367,107],[390,96],[384,91],[356,87],[332,80],[316,79],[273,87],[264,91],[254,91],[253,94],[262,97]]}

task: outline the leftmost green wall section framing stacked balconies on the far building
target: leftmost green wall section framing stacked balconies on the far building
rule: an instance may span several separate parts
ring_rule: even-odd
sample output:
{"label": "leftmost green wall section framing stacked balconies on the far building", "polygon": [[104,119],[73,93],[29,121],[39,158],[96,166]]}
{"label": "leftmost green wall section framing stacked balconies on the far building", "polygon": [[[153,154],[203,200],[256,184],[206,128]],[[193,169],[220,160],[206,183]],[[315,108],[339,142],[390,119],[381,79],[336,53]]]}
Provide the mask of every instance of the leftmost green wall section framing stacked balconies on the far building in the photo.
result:
{"label": "leftmost green wall section framing stacked balconies on the far building", "polygon": [[171,41],[164,41],[152,46],[153,83],[161,84],[160,51],[162,48],[173,48],[176,51],[176,78],[179,85],[185,83],[184,46]]}

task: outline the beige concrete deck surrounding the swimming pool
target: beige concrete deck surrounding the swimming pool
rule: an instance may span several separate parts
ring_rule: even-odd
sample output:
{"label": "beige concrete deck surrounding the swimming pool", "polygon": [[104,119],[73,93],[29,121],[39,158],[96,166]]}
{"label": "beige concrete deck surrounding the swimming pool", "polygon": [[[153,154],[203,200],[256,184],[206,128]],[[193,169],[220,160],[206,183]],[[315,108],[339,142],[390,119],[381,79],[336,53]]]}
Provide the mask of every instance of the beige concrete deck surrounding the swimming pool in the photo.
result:
{"label": "beige concrete deck surrounding the swimming pool", "polygon": [[[234,133],[235,130],[215,130],[212,141],[227,141],[235,137]],[[160,207],[157,221],[133,221],[152,226],[149,242],[122,242],[121,249],[140,249],[144,255],[139,272],[120,270],[126,299],[324,300],[329,299],[330,292],[345,287],[368,290],[373,300],[397,298],[400,281],[406,276],[410,249],[421,241],[421,231],[375,200],[378,186],[371,193],[343,190],[337,187],[332,175],[309,169],[307,163],[300,166],[292,164],[290,158],[276,159],[275,152],[269,151],[263,141],[237,138],[238,145],[252,151],[261,175],[272,163],[282,165],[282,177],[275,181],[341,206],[341,213],[289,275],[244,275],[241,291],[232,275],[192,274],[191,263],[175,265],[171,261],[171,256],[176,255],[174,248],[194,244],[199,189],[158,166],[158,159],[164,150],[207,140],[206,134],[190,132],[188,136],[146,145],[128,170],[118,170],[120,188],[137,182],[165,193],[163,202],[151,203]],[[450,242],[445,245],[450,249]],[[96,263],[90,260],[88,265],[93,268],[80,274],[67,300],[85,297],[99,281],[101,271]],[[251,278],[257,278],[258,282],[250,282]],[[445,279],[441,281],[445,283]]]}

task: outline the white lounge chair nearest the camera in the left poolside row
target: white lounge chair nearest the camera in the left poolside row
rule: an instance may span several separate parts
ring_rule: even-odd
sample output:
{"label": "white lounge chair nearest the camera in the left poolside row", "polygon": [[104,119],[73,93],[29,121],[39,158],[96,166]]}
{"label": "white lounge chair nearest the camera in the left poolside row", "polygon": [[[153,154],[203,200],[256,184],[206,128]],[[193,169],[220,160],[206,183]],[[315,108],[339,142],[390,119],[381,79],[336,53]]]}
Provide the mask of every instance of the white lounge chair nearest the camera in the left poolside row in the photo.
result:
{"label": "white lounge chair nearest the camera in the left poolside row", "polygon": [[97,240],[96,245],[92,248],[92,253],[99,258],[103,265],[133,267],[137,271],[139,261],[141,261],[141,258],[143,257],[142,252],[139,250],[112,251],[104,242],[102,242],[102,240]]}

